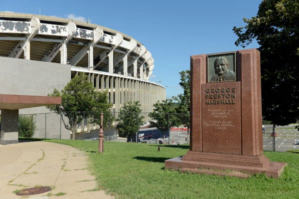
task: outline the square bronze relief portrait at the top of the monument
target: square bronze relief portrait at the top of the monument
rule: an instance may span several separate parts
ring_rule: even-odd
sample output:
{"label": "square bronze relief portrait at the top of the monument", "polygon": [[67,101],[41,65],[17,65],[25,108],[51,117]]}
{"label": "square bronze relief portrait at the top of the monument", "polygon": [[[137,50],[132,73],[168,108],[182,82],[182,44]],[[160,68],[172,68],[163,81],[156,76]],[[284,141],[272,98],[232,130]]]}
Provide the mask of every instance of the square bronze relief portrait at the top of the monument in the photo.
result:
{"label": "square bronze relief portrait at the top of the monument", "polygon": [[236,81],[236,53],[208,55],[208,82]]}

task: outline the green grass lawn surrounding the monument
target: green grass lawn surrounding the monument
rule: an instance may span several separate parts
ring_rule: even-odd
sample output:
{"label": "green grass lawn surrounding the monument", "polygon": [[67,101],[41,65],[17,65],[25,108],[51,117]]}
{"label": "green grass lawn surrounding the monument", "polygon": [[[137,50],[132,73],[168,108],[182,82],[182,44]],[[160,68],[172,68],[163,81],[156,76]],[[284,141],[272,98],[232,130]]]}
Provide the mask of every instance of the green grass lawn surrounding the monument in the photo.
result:
{"label": "green grass lawn surrounding the monument", "polygon": [[248,179],[179,173],[164,169],[164,160],[182,156],[188,146],[47,140],[86,151],[99,187],[120,199],[295,199],[299,198],[299,154],[265,152],[271,161],[287,162],[279,180],[265,175]]}

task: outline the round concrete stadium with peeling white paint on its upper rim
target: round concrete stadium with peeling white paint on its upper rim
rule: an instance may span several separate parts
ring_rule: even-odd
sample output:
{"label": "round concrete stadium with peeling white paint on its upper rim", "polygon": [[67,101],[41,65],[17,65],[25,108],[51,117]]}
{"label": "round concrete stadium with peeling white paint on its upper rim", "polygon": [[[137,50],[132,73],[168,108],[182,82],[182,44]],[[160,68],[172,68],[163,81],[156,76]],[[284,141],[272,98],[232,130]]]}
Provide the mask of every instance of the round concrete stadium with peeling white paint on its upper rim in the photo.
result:
{"label": "round concrete stadium with peeling white paint on its upper rim", "polygon": [[[149,50],[117,30],[66,18],[0,12],[0,94],[47,96],[83,72],[97,91],[108,91],[114,113],[128,101],[140,101],[142,111],[149,113],[155,102],[166,98],[165,87],[149,81],[153,69]],[[34,137],[69,139],[70,132],[59,127],[58,115],[42,115],[48,112],[40,106],[18,114],[36,114]],[[82,127],[85,131],[84,123]]]}

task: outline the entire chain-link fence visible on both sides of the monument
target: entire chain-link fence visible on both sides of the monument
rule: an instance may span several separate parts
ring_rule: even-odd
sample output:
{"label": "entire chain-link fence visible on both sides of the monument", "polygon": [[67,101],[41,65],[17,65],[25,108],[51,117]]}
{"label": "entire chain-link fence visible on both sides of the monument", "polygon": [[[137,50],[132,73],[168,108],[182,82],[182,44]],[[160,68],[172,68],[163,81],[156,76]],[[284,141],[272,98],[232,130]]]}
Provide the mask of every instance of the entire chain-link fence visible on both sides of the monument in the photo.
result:
{"label": "entire chain-link fence visible on both sides of the monument", "polygon": [[[104,113],[104,117],[105,117]],[[114,117],[118,116],[118,112],[111,112]],[[135,114],[135,113],[134,113]],[[76,139],[79,140],[96,140],[99,137],[100,126],[92,123],[93,112],[81,113],[83,120],[76,125]],[[185,124],[179,119],[182,116],[188,117],[187,114],[176,113],[161,113],[164,123],[169,126],[166,132],[162,132],[157,128],[150,125],[149,113],[139,113],[139,116],[148,118],[147,122],[140,127],[136,136],[132,139],[133,142],[139,143],[167,143],[170,145],[189,144],[190,132]],[[27,121],[22,121],[27,118]],[[170,123],[173,118],[176,118],[176,126],[171,126]],[[68,121],[67,118],[61,118],[56,113],[43,113],[43,114],[28,114],[20,115],[19,128],[22,132],[29,131],[33,133],[33,138],[41,139],[70,139],[71,131],[65,128],[64,122]],[[26,127],[22,127],[26,125]],[[117,140],[117,141],[131,141],[131,139],[120,138],[118,130],[116,129],[117,121],[111,122],[112,127],[104,128],[104,140]],[[298,125],[298,124],[297,124]],[[290,149],[299,148],[299,131],[295,125],[285,127],[275,127],[272,125],[263,125],[263,149],[264,151],[287,151]],[[26,132],[25,132],[26,133]],[[28,133],[28,132],[27,132]],[[164,139],[165,135],[165,139]]]}

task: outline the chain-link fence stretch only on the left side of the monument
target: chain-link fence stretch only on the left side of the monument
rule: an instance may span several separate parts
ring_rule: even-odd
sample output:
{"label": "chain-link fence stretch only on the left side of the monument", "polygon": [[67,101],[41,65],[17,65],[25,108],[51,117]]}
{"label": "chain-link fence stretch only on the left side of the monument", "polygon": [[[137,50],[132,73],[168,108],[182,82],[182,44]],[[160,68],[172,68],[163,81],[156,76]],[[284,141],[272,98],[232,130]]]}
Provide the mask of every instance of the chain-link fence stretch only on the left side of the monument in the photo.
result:
{"label": "chain-link fence stretch only on the left side of the monument", "polygon": [[[105,118],[104,113],[104,118]],[[119,112],[110,112],[115,119]],[[136,114],[136,113],[132,113]],[[78,140],[97,140],[99,137],[100,126],[93,123],[94,112],[82,112],[80,113],[83,119],[76,125],[76,139]],[[178,122],[178,126],[171,127],[169,120],[173,117],[179,118],[182,114],[164,113],[162,114],[165,119],[164,122],[168,124],[169,128],[166,132],[162,132],[154,127],[150,126],[149,113],[139,113],[139,116],[143,116],[146,120],[145,124],[140,127],[139,132],[136,133],[136,137],[132,139],[133,142],[139,143],[168,143],[168,144],[185,144],[189,142],[189,134],[186,127],[182,122]],[[187,114],[184,114],[187,116]],[[35,128],[28,128],[29,133],[33,138],[40,139],[70,139],[72,132],[65,128],[65,125],[69,125],[66,117],[61,117],[56,113],[41,113],[41,114],[22,114],[19,118],[27,118],[29,120],[29,126],[34,125]],[[64,124],[66,123],[66,124]],[[111,121],[109,124],[111,127],[104,128],[104,140],[117,140],[126,142],[131,141],[127,138],[119,138],[118,130],[116,129],[117,121]],[[27,128],[28,124],[19,121],[19,128]],[[165,140],[164,140],[165,135]]]}

